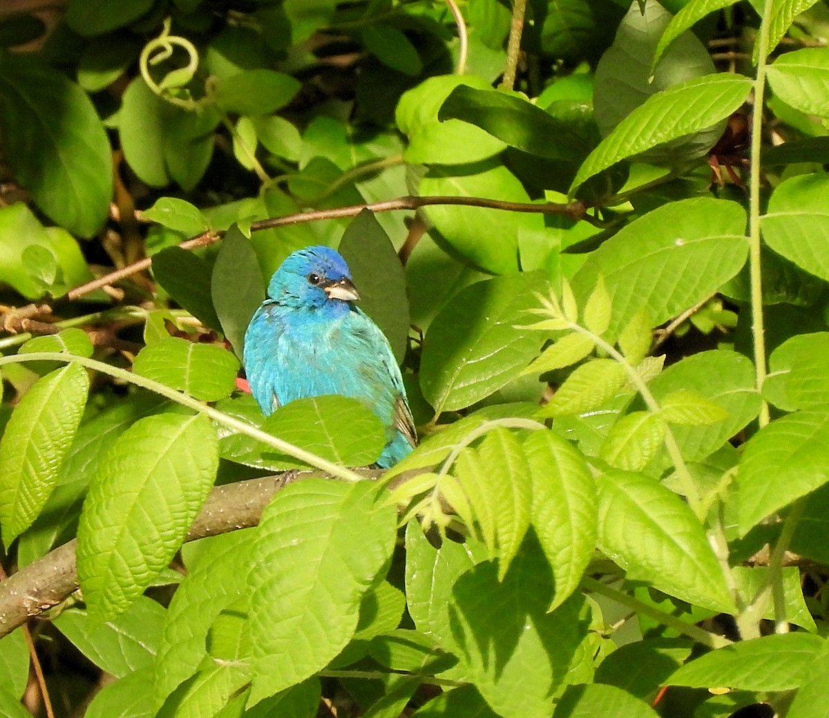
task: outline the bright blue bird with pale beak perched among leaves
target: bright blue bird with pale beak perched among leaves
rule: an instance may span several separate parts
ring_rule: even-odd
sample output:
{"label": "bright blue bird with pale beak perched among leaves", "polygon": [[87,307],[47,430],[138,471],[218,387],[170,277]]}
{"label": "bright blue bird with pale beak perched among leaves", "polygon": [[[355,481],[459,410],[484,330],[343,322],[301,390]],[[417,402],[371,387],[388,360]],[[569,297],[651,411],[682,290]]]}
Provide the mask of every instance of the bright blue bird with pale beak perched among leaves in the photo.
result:
{"label": "bright blue bird with pale beak perched among leaves", "polygon": [[339,253],[322,245],[294,252],[245,332],[245,373],[265,415],[308,396],[361,401],[386,427],[376,463],[389,468],[412,450],[414,421],[389,342],[354,306],[359,298]]}

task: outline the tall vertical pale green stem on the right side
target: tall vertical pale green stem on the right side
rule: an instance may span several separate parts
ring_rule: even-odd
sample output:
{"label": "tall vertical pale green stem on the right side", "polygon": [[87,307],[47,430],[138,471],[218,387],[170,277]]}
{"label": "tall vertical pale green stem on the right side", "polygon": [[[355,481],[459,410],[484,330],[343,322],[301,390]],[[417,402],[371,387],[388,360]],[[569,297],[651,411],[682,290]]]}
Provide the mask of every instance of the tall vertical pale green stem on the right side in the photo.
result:
{"label": "tall vertical pale green stem on the right side", "polygon": [[[757,75],[754,78],[754,112],[751,114],[751,165],[749,167],[749,274],[751,278],[751,319],[754,337],[754,367],[757,391],[766,378],[766,337],[763,319],[763,276],[760,255],[760,148],[763,142],[763,102],[766,90],[768,26],[772,0],[765,0],[760,31],[757,36]],[[760,428],[768,424],[768,403],[763,401],[758,417]]]}

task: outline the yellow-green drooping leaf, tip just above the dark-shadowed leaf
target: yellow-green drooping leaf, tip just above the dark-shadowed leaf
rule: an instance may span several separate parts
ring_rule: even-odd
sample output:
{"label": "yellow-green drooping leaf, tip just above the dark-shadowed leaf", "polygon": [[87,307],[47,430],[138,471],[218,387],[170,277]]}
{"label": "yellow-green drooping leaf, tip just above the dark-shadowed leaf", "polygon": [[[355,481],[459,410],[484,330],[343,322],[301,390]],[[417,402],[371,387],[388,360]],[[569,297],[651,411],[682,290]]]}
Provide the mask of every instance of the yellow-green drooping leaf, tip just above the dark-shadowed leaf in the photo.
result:
{"label": "yellow-green drooping leaf, tip just above the dark-shadowed leaf", "polygon": [[455,473],[490,555],[499,557],[498,579],[503,580],[530,526],[531,476],[521,444],[507,429],[496,427],[478,449],[458,455]]}

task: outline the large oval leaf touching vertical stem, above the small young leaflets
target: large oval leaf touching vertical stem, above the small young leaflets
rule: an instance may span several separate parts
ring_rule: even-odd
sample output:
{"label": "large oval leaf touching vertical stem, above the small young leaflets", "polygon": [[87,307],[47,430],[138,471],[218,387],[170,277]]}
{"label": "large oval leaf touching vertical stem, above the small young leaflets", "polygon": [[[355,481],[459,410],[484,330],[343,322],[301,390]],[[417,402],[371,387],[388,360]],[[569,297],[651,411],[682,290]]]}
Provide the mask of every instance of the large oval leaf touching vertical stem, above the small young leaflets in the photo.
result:
{"label": "large oval leaf touching vertical stem, above the small young leaflets", "polygon": [[[699,197],[670,202],[604,242],[573,279],[579,303],[604,278],[613,304],[608,334],[617,336],[642,307],[661,324],[714,294],[745,264],[745,211]],[[689,270],[693,267],[693,270]]]}

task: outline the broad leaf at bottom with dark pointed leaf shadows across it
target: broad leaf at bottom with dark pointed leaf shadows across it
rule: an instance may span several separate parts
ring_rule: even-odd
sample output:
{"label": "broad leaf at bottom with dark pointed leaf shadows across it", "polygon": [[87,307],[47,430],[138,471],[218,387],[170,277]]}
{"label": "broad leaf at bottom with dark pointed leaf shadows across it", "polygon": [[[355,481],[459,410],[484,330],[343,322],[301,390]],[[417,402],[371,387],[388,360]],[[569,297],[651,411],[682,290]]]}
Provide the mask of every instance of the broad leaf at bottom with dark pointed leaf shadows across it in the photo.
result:
{"label": "broad leaf at bottom with dark pointed leaf shadows across it", "polygon": [[451,642],[443,647],[460,658],[458,669],[504,718],[550,716],[550,694],[587,632],[579,621],[583,599],[573,596],[548,613],[553,591],[550,565],[533,532],[502,581],[485,561],[454,584]]}

